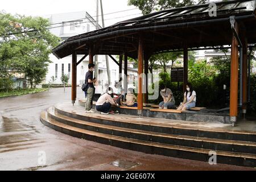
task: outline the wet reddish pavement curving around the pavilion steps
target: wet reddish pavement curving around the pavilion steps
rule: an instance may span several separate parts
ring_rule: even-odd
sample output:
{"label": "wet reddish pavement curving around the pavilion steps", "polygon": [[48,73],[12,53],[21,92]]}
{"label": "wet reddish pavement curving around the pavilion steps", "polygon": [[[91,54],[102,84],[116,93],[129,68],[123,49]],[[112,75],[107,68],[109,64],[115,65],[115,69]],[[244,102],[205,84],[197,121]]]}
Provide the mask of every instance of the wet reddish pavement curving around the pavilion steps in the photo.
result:
{"label": "wet reddish pavement curving around the pavilion steps", "polygon": [[[77,88],[77,99],[84,93]],[[254,170],[150,155],[59,133],[40,112],[71,103],[71,88],[0,99],[0,170]]]}

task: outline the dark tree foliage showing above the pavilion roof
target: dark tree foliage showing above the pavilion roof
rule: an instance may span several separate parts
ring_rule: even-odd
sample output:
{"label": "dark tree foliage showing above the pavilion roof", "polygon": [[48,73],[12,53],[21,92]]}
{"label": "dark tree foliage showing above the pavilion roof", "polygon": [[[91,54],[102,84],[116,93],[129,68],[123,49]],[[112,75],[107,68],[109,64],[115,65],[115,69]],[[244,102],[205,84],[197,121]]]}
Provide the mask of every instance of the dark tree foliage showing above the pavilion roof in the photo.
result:
{"label": "dark tree foliage showing above the pavilion roof", "polygon": [[[205,3],[208,0],[201,0],[199,3]],[[134,5],[138,7],[142,13],[149,14],[152,11],[166,10],[174,7],[183,7],[195,5],[197,1],[193,0],[129,0],[128,5]]]}

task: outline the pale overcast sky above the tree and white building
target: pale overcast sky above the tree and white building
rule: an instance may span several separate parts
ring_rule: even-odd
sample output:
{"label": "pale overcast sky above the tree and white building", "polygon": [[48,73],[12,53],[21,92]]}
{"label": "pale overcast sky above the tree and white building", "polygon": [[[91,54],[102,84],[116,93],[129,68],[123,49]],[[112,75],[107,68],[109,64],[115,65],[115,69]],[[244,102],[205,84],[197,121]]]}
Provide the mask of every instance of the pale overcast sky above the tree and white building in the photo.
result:
{"label": "pale overcast sky above the tree and white building", "polygon": [[[106,26],[141,15],[141,11],[136,9],[135,6],[127,5],[127,0],[102,0],[102,3],[104,14],[129,10],[121,13],[105,15],[104,18],[106,19]],[[6,13],[22,14],[27,16],[87,11],[91,16],[96,16],[96,4],[96,0],[9,0],[1,1],[0,10],[4,10]],[[99,14],[101,13],[99,12]]]}

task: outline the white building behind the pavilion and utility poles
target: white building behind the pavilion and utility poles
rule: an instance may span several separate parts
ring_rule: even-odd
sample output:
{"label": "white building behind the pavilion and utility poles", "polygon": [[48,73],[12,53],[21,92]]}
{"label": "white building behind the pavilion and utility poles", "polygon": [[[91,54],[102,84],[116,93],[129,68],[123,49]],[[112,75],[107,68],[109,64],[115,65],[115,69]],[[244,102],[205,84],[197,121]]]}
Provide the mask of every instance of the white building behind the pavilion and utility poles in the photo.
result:
{"label": "white building behind the pavilion and utility poles", "polygon": [[[63,13],[63,14],[53,14],[45,16],[48,18],[49,22],[52,24],[49,29],[52,34],[61,38],[61,40],[66,40],[71,36],[84,34],[89,31],[96,30],[97,23],[96,20],[92,18],[87,12],[75,12],[75,13]],[[77,61],[79,61],[84,55],[77,55]],[[48,84],[51,81],[51,77],[55,77],[53,84],[62,84],[60,78],[63,74],[69,76],[69,84],[72,81],[72,56],[64,57],[63,59],[57,59],[56,56],[51,54],[49,56],[52,61],[48,67],[48,73],[46,76],[45,83]],[[95,59],[95,57],[94,57]],[[78,66],[77,66],[77,85],[82,85],[85,80],[85,74],[88,71],[89,56],[87,56]],[[110,67],[110,85],[114,85],[115,81],[118,81],[119,67],[112,59],[109,58]],[[137,71],[134,69],[129,69],[130,76],[137,75]],[[99,85],[96,87],[96,93],[102,93],[105,90],[105,84],[108,83],[108,74],[106,71],[106,58],[104,55],[98,56],[98,82]]]}

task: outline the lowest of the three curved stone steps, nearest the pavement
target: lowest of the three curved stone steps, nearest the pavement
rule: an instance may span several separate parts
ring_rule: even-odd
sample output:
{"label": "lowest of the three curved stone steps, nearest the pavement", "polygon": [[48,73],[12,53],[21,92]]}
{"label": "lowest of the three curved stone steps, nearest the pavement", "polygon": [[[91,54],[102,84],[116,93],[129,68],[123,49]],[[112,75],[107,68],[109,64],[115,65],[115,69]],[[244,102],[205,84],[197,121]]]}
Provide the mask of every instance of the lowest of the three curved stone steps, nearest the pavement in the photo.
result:
{"label": "lowest of the three curved stone steps, nearest the pavement", "polygon": [[[171,144],[146,142],[137,139],[116,137],[113,135],[97,133],[94,131],[88,131],[77,127],[65,125],[63,123],[55,121],[52,118],[49,118],[46,111],[42,111],[40,120],[44,125],[49,126],[56,131],[60,131],[61,133],[68,134],[77,138],[92,140],[94,142],[109,144],[115,147],[146,152],[148,154],[159,154],[173,156],[176,158],[201,160],[205,162],[208,162],[210,158],[210,150],[206,149],[175,146]],[[255,167],[256,155],[217,151],[217,163]]]}

